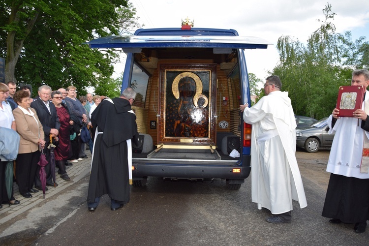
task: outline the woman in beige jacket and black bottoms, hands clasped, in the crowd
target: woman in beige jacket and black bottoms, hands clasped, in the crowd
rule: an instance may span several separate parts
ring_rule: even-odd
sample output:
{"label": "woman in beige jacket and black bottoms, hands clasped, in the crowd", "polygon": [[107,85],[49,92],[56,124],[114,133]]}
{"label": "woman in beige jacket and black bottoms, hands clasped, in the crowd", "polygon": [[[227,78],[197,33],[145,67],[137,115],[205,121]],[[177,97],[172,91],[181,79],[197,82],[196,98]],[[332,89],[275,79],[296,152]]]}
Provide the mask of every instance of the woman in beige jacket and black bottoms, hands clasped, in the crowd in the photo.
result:
{"label": "woman in beige jacket and black bottoms, hands clasped, in the crowd", "polygon": [[29,92],[17,91],[13,99],[18,104],[13,115],[21,137],[15,174],[19,193],[25,198],[31,198],[31,193],[38,192],[38,189],[33,189],[33,183],[37,162],[40,160],[39,147],[45,147],[44,131],[36,111],[31,108]]}

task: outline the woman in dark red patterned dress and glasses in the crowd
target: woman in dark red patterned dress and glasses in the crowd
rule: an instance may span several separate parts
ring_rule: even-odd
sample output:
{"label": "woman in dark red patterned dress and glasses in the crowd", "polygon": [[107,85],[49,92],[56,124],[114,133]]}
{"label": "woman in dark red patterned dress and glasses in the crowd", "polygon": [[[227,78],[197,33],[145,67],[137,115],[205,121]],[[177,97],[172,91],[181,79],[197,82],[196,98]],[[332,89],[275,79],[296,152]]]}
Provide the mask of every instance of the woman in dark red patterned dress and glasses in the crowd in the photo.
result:
{"label": "woman in dark red patterned dress and glasses in the crowd", "polygon": [[70,120],[67,107],[62,103],[62,92],[55,91],[51,93],[53,104],[57,109],[60,121],[59,143],[54,150],[56,166],[59,168],[58,174],[63,180],[69,181],[70,178],[65,170],[65,160],[72,155],[72,146],[70,143],[70,125],[74,122]]}

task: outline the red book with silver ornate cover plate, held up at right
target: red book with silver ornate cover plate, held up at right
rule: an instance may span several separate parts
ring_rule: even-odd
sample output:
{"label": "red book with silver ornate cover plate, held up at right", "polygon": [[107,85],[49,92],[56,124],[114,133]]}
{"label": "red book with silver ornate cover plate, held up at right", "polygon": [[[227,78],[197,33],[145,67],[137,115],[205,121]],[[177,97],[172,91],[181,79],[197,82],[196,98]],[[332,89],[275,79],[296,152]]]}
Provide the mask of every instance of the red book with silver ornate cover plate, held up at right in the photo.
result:
{"label": "red book with silver ornate cover plate, held up at right", "polygon": [[337,106],[340,117],[353,117],[352,113],[360,109],[366,90],[364,86],[340,86]]}

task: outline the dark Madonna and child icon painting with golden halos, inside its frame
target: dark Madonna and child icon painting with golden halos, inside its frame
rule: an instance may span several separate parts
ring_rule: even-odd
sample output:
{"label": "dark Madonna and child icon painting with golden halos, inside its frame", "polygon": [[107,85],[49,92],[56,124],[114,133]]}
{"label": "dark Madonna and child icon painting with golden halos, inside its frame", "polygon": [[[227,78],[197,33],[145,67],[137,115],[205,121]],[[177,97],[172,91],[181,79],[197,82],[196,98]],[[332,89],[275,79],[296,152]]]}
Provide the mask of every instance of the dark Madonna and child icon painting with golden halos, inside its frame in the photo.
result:
{"label": "dark Madonna and child icon painting with golden halos, inside its frame", "polygon": [[165,137],[208,138],[209,99],[202,94],[200,77],[192,72],[180,73],[171,89],[166,95]]}

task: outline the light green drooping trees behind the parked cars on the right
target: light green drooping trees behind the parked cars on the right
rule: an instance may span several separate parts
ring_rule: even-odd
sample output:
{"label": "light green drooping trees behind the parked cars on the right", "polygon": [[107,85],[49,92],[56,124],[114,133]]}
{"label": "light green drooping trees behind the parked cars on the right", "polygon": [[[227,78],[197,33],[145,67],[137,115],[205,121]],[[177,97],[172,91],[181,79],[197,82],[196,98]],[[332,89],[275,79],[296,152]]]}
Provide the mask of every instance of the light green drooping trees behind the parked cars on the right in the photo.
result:
{"label": "light green drooping trees behind the parked cars on the right", "polygon": [[[351,41],[351,33],[336,33],[331,5],[323,9],[325,20],[306,44],[289,36],[278,39],[279,63],[273,69],[282,81],[297,115],[321,119],[336,107],[338,88],[350,85],[353,69],[368,67],[368,42]],[[367,56],[368,57],[368,56]]]}

